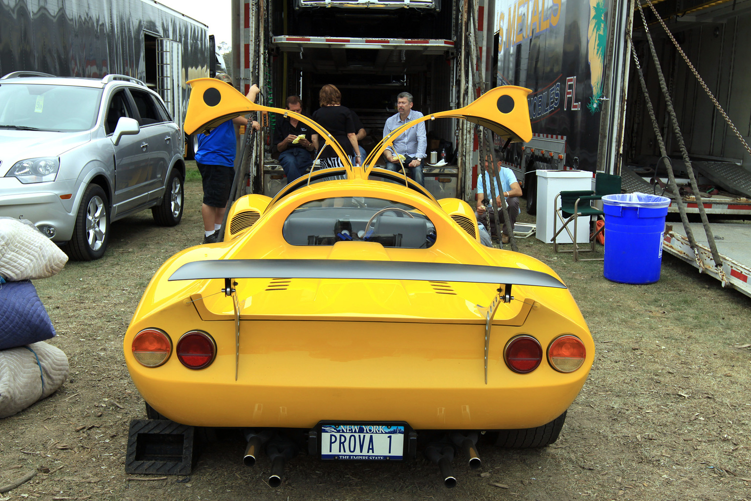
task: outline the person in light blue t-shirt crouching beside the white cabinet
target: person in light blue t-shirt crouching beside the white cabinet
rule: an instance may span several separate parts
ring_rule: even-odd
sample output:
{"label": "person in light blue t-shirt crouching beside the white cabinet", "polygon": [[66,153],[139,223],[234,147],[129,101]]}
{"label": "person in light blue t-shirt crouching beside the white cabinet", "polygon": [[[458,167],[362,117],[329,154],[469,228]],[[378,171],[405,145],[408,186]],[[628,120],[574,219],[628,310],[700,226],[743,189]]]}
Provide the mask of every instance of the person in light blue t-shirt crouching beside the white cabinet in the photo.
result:
{"label": "person in light blue t-shirt crouching beside the white cabinet", "polygon": [[[500,152],[496,152],[496,158],[500,158]],[[511,169],[501,167],[501,162],[498,162],[497,171],[501,178],[501,189],[499,189],[496,181],[496,169],[490,168],[490,164],[493,164],[492,159],[486,158],[485,169],[477,179],[477,210],[475,211],[480,230],[480,240],[483,245],[489,247],[493,245],[490,234],[494,234],[496,231],[493,202],[490,201],[490,180],[492,179],[493,189],[496,194],[496,203],[499,210],[498,220],[503,225],[501,243],[508,243],[508,236],[514,232],[514,225],[520,213],[519,197],[521,196],[521,186],[519,186],[519,182]],[[501,196],[505,198],[506,205],[508,206],[508,219],[511,219],[510,225],[505,224],[504,221],[505,218],[501,209]]]}

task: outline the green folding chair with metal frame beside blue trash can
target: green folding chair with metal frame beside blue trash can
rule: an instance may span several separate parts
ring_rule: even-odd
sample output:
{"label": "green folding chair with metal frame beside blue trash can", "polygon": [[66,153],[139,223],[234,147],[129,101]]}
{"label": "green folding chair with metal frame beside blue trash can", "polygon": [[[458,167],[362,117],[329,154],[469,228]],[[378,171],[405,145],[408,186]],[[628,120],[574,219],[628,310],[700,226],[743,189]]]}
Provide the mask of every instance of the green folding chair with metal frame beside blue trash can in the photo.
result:
{"label": "green folding chair with metal frame beside blue trash can", "polygon": [[[573,192],[560,192],[556,195],[553,207],[558,207],[558,199],[560,198],[560,207],[556,209],[556,216],[553,217],[553,251],[554,252],[573,252],[574,261],[602,261],[604,258],[579,258],[579,252],[593,252],[595,250],[595,239],[597,235],[605,229],[603,226],[594,233],[590,233],[590,228],[587,228],[587,233],[590,234],[590,242],[587,249],[581,249],[576,241],[576,235],[578,235],[578,222],[581,216],[590,216],[590,227],[592,225],[592,218],[595,220],[603,216],[602,210],[596,207],[592,207],[593,200],[602,199],[602,195],[615,195],[620,193],[620,176],[613,174],[605,174],[604,172],[598,172],[595,175],[595,191],[580,190]],[[581,207],[580,207],[581,206]],[[560,221],[562,226],[557,229],[557,222]],[[574,222],[574,233],[572,234],[569,228],[569,223]],[[572,249],[559,249],[562,245],[558,242],[558,235],[561,231],[566,230],[573,242]]]}

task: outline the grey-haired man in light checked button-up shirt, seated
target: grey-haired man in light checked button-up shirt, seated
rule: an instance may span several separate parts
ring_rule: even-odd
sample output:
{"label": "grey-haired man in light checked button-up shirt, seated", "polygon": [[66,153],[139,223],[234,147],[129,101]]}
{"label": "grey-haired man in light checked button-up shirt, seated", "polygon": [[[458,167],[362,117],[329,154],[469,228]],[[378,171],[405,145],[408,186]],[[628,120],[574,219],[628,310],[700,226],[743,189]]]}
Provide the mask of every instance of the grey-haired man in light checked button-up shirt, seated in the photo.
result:
{"label": "grey-haired man in light checked button-up shirt, seated", "polygon": [[[418,119],[423,116],[419,111],[412,110],[412,94],[401,92],[397,96],[397,113],[388,117],[383,126],[383,136],[391,134],[396,128],[404,125],[410,120]],[[389,146],[383,152],[386,158],[386,168],[389,171],[402,172],[402,166],[396,153],[404,155],[406,158],[402,161],[404,170],[409,174],[412,172],[412,178],[416,183],[424,185],[423,163],[425,161],[425,150],[427,149],[427,134],[425,133],[425,122],[420,122],[414,127],[408,128],[402,132],[392,146]]]}

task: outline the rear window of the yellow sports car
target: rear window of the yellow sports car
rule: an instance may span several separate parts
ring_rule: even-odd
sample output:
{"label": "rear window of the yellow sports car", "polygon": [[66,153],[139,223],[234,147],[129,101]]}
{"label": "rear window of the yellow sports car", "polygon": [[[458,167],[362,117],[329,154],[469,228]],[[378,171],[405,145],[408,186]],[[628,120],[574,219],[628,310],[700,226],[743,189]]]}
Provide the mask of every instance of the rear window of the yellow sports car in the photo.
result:
{"label": "rear window of the yellow sports car", "polygon": [[427,249],[436,242],[436,227],[408,204],[382,198],[336,197],[297,207],[285,220],[282,236],[294,246],[364,241],[384,247]]}

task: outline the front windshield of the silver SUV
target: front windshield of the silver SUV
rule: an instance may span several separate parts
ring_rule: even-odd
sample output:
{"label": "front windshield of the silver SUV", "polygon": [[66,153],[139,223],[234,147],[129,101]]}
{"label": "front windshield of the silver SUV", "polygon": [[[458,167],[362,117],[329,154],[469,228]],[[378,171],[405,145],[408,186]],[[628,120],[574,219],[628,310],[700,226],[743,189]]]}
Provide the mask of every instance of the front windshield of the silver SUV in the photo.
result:
{"label": "front windshield of the silver SUV", "polygon": [[0,128],[88,131],[96,122],[101,93],[94,87],[2,83]]}

